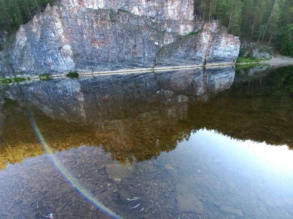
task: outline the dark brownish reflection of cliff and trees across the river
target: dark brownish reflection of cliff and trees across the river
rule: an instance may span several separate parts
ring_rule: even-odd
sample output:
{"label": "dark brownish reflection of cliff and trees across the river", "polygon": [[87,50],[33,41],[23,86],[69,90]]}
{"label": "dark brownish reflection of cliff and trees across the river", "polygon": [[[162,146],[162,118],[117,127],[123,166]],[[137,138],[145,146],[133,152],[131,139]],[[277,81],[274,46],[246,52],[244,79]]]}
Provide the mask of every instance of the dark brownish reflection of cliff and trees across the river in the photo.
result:
{"label": "dark brownish reflection of cliff and trees across the river", "polygon": [[55,150],[102,145],[121,163],[157,157],[202,128],[291,147],[284,115],[292,115],[292,101],[280,105],[265,93],[270,74],[233,84],[234,77],[234,68],[222,67],[14,84],[3,92],[1,168],[44,153],[30,115]]}

